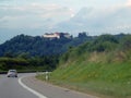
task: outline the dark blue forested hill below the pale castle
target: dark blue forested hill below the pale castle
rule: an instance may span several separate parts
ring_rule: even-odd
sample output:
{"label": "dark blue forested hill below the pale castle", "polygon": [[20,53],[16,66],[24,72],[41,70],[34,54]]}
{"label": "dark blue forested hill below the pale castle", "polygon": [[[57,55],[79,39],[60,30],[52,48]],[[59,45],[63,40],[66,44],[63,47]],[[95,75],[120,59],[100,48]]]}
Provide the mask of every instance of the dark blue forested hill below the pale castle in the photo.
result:
{"label": "dark blue forested hill below the pale castle", "polygon": [[0,57],[17,56],[27,53],[29,56],[55,56],[66,52],[70,47],[79,46],[93,37],[79,34],[75,38],[48,39],[41,36],[17,35],[0,45]]}

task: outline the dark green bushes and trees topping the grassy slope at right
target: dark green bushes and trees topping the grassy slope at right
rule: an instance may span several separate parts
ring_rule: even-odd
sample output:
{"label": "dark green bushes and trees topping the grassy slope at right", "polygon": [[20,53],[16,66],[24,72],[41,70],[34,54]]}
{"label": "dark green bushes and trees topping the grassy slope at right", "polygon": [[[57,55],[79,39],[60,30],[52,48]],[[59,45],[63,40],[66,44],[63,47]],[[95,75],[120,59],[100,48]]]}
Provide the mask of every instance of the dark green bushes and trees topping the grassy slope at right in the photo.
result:
{"label": "dark green bushes and trees topping the grassy slope at right", "polygon": [[[112,58],[116,58],[116,56],[119,56],[120,52],[126,53],[128,57],[131,51],[131,35],[102,35],[98,37],[95,37],[95,39],[91,41],[86,41],[85,44],[70,48],[68,52],[66,52],[60,61],[67,62],[68,60],[76,59],[80,56],[83,56],[87,53],[90,56],[91,53],[112,53]],[[73,57],[73,58],[72,58]],[[119,57],[120,58],[120,57]],[[110,57],[109,57],[110,59]]]}

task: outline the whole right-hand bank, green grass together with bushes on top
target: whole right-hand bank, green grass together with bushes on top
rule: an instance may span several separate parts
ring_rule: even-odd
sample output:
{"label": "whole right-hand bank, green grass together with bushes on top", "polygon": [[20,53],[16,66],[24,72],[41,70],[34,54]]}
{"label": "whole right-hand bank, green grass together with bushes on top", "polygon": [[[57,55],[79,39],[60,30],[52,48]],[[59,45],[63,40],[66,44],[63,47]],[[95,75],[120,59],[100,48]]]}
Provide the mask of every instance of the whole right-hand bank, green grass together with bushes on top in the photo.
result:
{"label": "whole right-hand bank, green grass together with bushes on top", "polygon": [[131,98],[130,73],[131,35],[102,35],[70,48],[48,82],[100,98]]}

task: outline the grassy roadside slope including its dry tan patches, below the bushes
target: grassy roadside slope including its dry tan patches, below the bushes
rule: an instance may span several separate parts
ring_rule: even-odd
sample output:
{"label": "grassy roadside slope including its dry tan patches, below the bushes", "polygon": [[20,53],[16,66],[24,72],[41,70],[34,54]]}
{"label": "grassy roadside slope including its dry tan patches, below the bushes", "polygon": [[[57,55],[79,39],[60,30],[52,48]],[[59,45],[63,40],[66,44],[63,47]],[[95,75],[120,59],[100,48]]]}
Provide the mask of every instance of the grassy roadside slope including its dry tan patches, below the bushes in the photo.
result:
{"label": "grassy roadside slope including its dry tan patches, below the bushes", "polygon": [[[60,62],[48,82],[100,98],[131,98],[131,52],[127,54],[122,51],[71,54]],[[45,79],[43,75],[37,77]]]}

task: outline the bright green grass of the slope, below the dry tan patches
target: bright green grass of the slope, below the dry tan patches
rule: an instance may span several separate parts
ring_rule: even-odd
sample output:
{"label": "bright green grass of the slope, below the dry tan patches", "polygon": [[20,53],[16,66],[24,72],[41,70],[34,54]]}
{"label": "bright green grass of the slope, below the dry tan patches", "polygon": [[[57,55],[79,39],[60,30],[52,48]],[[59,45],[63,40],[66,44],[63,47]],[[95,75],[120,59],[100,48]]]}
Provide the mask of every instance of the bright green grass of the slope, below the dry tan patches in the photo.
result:
{"label": "bright green grass of the slope, below the dry tan patches", "polygon": [[130,61],[95,63],[79,59],[52,72],[49,82],[104,98],[131,98],[130,73]]}

